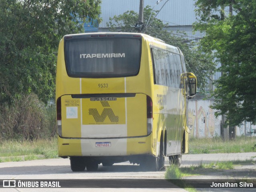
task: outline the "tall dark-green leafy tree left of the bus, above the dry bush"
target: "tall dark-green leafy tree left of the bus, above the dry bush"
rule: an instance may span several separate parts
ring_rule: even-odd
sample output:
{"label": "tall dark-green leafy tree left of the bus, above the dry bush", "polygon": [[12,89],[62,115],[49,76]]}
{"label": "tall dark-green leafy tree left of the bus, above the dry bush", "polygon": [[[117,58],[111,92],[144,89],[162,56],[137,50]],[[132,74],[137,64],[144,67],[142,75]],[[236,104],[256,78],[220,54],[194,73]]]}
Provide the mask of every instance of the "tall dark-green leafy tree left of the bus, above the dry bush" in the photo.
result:
{"label": "tall dark-green leafy tree left of the bus, above the dry bush", "polygon": [[47,102],[55,90],[56,52],[65,34],[97,19],[101,0],[0,0],[0,103],[34,92]]}

